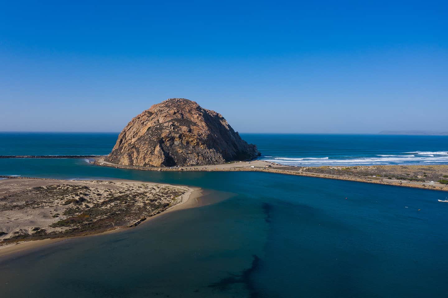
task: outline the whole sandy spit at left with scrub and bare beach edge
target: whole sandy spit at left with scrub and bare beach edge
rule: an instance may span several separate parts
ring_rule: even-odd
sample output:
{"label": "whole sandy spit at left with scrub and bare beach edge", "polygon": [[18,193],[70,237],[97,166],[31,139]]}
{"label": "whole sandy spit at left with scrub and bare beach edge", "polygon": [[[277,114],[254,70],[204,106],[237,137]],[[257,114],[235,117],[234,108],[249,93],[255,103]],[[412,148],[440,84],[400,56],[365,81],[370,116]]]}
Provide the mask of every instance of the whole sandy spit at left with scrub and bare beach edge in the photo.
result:
{"label": "whole sandy spit at left with scrub and bare beach edge", "polygon": [[[55,186],[57,186],[57,191]],[[0,180],[0,187],[0,257],[58,243],[70,238],[132,229],[162,214],[206,204],[200,200],[202,190],[198,187],[118,179],[67,181],[9,178]],[[76,188],[73,189],[73,187]],[[90,200],[87,203],[92,206],[89,208],[85,206],[87,210],[90,209],[89,211],[93,211],[93,213],[103,210],[103,212],[100,212],[100,216],[91,216],[85,222],[71,221],[73,215],[77,215],[75,218],[87,217],[86,209],[82,210],[80,206],[77,206],[79,205],[78,202],[73,201],[67,204],[67,200],[79,197],[79,191],[76,193],[79,187],[89,187],[90,194],[86,196],[88,193],[84,192],[84,197],[90,197],[92,193],[99,193],[101,194],[100,197],[105,196],[104,199],[99,200],[89,198]],[[39,200],[39,195],[36,196],[35,193],[36,189],[41,190],[40,188],[46,188],[44,202]],[[149,189],[150,192],[148,192]],[[120,196],[132,195],[135,200],[126,203],[128,208],[122,208],[121,206],[121,212],[124,214],[117,214],[116,209],[111,208],[108,204],[111,196],[117,196],[117,193],[113,191],[116,191]],[[106,196],[106,194],[109,196]],[[147,203],[151,200],[152,204],[148,206]],[[86,201],[82,203],[86,203]],[[123,202],[117,200],[112,202],[113,205],[120,205],[121,203]],[[160,204],[154,205],[154,203]],[[98,208],[98,206],[104,208]],[[145,207],[145,210],[142,207]],[[98,209],[96,212],[95,208]],[[73,210],[78,212],[73,213]],[[104,224],[105,222],[107,224]]]}

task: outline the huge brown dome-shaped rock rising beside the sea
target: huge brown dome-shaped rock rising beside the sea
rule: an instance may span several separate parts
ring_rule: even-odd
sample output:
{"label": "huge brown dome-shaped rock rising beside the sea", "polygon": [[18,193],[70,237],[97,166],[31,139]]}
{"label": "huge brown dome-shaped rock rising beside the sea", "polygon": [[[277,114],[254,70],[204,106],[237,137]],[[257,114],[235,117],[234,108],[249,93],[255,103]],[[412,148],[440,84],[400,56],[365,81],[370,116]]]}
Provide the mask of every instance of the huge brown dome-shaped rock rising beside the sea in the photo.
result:
{"label": "huge brown dome-shaped rock rising beside the sea", "polygon": [[258,155],[257,146],[242,140],[222,115],[185,98],[170,98],[134,117],[106,161],[126,166],[190,166]]}

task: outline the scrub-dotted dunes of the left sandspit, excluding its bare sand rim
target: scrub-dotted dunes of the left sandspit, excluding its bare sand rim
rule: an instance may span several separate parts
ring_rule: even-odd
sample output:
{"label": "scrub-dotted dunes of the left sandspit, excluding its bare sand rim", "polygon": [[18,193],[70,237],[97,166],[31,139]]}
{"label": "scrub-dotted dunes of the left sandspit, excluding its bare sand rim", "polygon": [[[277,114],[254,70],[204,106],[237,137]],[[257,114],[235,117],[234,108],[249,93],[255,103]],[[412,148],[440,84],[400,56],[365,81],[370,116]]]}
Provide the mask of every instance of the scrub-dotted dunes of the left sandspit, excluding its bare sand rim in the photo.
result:
{"label": "scrub-dotted dunes of the left sandspit, excluding its bare sand rim", "polygon": [[[0,238],[0,245],[137,226],[142,218],[161,213],[181,202],[182,195],[189,190],[187,187],[153,183],[64,181],[55,184],[55,180],[14,180],[9,184],[2,183],[0,191],[4,196],[4,204],[0,204],[0,226],[4,230],[0,231],[0,236],[4,236],[3,240]],[[29,187],[28,183],[40,185]],[[20,217],[33,209],[39,209],[39,214],[29,222],[33,226],[27,226],[26,218],[29,216],[26,215],[20,218],[21,226],[6,238],[7,232],[15,227],[6,214],[17,211],[15,216]]]}

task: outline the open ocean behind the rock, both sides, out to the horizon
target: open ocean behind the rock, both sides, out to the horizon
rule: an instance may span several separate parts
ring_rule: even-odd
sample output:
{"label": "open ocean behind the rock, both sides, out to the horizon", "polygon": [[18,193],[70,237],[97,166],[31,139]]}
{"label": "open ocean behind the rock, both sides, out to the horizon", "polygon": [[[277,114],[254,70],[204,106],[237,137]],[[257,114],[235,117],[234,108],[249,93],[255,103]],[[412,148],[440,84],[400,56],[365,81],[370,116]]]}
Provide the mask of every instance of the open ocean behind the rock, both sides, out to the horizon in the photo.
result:
{"label": "open ocean behind the rock, both sides, out to the horizon", "polygon": [[[118,133],[4,133],[0,155],[102,155]],[[448,136],[241,134],[260,159],[292,166],[448,164]]]}

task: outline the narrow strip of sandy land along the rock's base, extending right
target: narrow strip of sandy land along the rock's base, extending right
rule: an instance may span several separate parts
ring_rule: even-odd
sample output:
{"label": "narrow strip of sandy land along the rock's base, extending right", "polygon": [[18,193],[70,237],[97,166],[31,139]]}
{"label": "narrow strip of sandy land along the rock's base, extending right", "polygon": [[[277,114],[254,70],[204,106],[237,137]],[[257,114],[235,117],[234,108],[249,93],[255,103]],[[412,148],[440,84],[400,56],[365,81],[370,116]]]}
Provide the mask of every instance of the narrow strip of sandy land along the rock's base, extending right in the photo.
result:
{"label": "narrow strip of sandy land along the rock's base, extending right", "polygon": [[448,175],[448,165],[300,167],[284,166],[263,160],[253,160],[250,162],[228,162],[220,165],[207,166],[142,167],[116,165],[105,162],[103,158],[95,159],[95,162],[92,162],[92,164],[150,171],[257,171],[448,192],[447,184],[437,182],[443,175]]}

